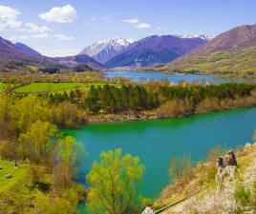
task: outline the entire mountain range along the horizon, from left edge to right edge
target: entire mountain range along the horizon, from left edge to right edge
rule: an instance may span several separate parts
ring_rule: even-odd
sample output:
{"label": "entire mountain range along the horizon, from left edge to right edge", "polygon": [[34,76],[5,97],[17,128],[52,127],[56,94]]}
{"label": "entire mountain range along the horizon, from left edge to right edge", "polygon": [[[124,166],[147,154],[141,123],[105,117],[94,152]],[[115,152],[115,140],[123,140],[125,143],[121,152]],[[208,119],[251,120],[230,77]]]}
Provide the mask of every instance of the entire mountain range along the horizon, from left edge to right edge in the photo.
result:
{"label": "entire mountain range along the horizon, from left edge to right edge", "polygon": [[0,62],[11,60],[52,66],[90,68],[147,67],[179,72],[254,74],[256,25],[206,35],[152,35],[139,41],[113,38],[97,42],[75,56],[46,57],[22,43],[0,37]]}

